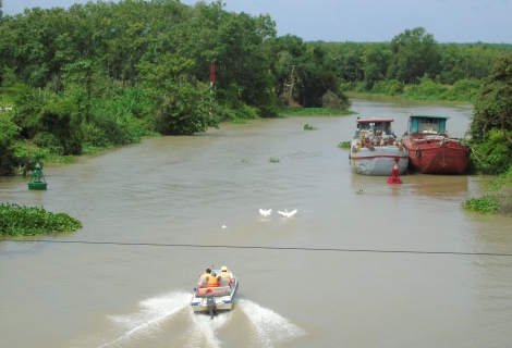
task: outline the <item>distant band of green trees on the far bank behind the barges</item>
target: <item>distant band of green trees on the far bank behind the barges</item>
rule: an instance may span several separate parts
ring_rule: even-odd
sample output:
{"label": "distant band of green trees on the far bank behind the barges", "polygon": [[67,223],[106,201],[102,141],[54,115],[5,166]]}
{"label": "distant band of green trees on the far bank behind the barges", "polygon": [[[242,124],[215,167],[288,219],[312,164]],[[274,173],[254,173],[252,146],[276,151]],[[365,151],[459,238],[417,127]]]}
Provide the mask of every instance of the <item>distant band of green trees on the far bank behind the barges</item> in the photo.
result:
{"label": "distant band of green trees on the far bank behind the barges", "polygon": [[[321,45],[326,52],[325,66],[345,82],[344,89],[375,92],[387,90],[382,87],[392,80],[403,87],[420,84],[424,77],[443,85],[463,79],[480,80],[489,76],[496,58],[512,51],[512,45],[438,44],[422,27],[406,29],[390,42],[308,45]],[[393,86],[399,87],[397,83]],[[397,91],[397,88],[391,90]],[[464,101],[475,99],[476,94],[470,97]]]}

